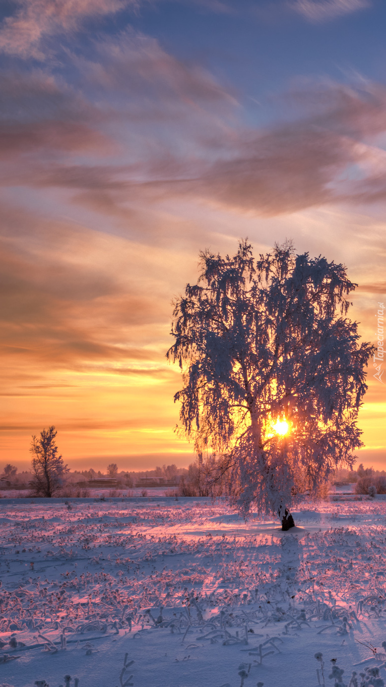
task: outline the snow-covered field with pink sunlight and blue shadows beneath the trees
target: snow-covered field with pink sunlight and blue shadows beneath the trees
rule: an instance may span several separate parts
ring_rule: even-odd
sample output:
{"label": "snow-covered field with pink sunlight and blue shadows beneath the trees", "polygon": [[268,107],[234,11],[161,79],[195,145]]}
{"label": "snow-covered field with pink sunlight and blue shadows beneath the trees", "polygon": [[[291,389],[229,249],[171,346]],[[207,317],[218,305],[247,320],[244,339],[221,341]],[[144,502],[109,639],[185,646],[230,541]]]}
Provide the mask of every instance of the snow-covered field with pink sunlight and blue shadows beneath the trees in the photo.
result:
{"label": "snow-covered field with pink sunlight and blue shadows beneath the trees", "polygon": [[290,532],[209,499],[1,499],[0,686],[317,687],[321,652],[326,686],[381,687],[386,500],[332,498]]}

